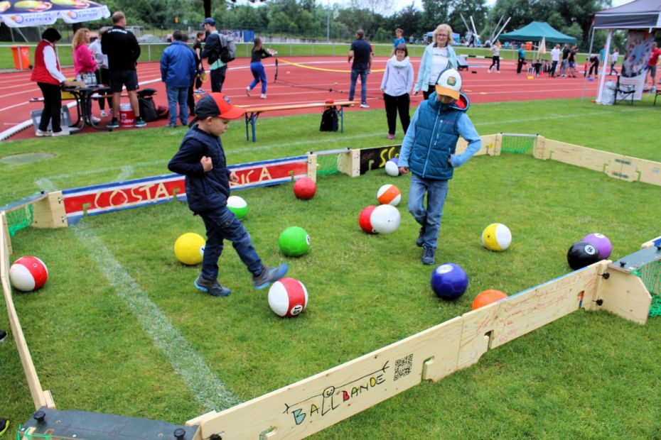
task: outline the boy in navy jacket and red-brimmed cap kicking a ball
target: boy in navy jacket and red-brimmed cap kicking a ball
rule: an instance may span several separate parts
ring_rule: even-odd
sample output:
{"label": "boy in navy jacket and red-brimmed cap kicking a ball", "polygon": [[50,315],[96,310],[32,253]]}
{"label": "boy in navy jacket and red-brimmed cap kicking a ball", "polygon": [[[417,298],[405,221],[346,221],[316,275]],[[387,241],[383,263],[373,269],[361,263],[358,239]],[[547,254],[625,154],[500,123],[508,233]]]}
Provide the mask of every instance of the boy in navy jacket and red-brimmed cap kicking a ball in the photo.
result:
{"label": "boy in navy jacket and red-brimmed cap kicking a ball", "polygon": [[267,287],[287,273],[286,264],[277,268],[262,264],[249,233],[227,208],[230,180],[238,182],[239,179],[235,172],[227,170],[220,135],[227,130],[230,119],[241,118],[244,112],[227,102],[222,93],[202,97],[195,105],[195,121],[199,123],[188,130],[179,151],[168,163],[169,170],[186,176],[188,208],[202,217],[207,229],[202,273],[195,280],[195,287],[215,297],[230,295],[230,289],[222,287],[217,280],[223,240],[232,242],[252,273],[256,289]]}

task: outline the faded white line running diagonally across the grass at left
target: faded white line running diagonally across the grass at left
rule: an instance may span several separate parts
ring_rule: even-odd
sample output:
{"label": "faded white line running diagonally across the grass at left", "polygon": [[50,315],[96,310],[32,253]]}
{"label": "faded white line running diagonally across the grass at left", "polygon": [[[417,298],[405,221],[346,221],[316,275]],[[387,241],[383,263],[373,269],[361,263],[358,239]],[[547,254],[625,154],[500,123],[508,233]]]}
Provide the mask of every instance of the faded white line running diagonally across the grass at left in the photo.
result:
{"label": "faded white line running diagonally across the grass at left", "polygon": [[[42,180],[42,189],[52,191],[53,182]],[[151,302],[138,283],[114,258],[95,232],[81,221],[70,228],[97,266],[140,322],[144,331],[154,340],[170,361],[172,368],[183,378],[193,395],[206,409],[227,409],[240,403],[238,397],[216,377],[190,343],[181,336],[161,309]]]}

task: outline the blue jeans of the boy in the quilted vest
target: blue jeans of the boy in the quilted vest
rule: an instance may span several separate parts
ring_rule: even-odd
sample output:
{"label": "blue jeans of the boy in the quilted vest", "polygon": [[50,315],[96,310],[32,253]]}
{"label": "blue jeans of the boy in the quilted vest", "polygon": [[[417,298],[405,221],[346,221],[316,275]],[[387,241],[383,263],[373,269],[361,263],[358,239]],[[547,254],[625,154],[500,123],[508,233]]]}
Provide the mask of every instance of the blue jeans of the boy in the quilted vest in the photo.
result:
{"label": "blue jeans of the boy in the quilted vest", "polygon": [[[427,207],[424,207],[424,193],[427,193]],[[423,245],[436,249],[436,241],[441,229],[443,205],[448,195],[447,180],[423,179],[411,173],[411,189],[409,190],[409,212],[413,218],[424,227]]]}

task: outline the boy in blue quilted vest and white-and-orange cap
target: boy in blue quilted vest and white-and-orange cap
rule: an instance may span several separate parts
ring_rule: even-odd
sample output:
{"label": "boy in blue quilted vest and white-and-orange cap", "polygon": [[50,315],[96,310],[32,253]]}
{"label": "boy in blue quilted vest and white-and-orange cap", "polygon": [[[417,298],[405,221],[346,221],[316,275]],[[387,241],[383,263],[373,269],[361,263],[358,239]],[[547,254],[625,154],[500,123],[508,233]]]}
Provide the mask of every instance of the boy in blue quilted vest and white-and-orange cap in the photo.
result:
{"label": "boy in blue quilted vest and white-and-orange cap", "polygon": [[[422,264],[434,264],[448,181],[454,169],[482,148],[480,135],[466,114],[469,105],[468,97],[461,92],[459,72],[441,72],[435,92],[415,111],[399,152],[399,172],[412,173],[408,208],[421,225],[416,244],[423,249]],[[468,141],[468,147],[456,154],[459,136]]]}

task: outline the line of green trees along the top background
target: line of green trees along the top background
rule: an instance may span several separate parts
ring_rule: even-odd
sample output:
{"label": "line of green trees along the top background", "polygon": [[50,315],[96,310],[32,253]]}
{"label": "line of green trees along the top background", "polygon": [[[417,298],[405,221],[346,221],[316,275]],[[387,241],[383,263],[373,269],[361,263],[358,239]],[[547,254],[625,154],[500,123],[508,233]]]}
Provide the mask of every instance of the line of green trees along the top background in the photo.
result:
{"label": "line of green trees along the top background", "polygon": [[[255,0],[250,0],[255,1]],[[422,0],[422,9],[413,2],[394,11],[393,0],[350,0],[345,4],[331,0],[107,0],[111,11],[122,10],[129,25],[161,28],[198,29],[205,16],[213,16],[221,29],[249,29],[261,35],[281,35],[318,40],[351,40],[363,29],[375,42],[392,41],[395,28],[404,37],[414,38],[448,23],[453,31],[465,35],[472,31],[471,17],[482,41],[495,33],[510,18],[505,32],[514,31],[531,21],[547,21],[558,31],[576,37],[579,48],[587,50],[591,22],[596,11],[611,7],[610,0]],[[206,12],[205,12],[206,11]],[[499,19],[503,17],[500,26]],[[468,28],[466,24],[468,24]],[[605,32],[595,35],[594,47],[605,42]],[[622,36],[620,35],[620,40]],[[618,41],[616,41],[616,44]],[[621,42],[620,46],[621,46]]]}

